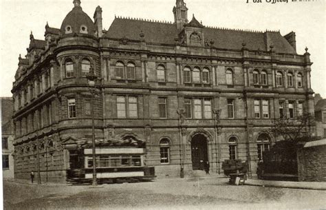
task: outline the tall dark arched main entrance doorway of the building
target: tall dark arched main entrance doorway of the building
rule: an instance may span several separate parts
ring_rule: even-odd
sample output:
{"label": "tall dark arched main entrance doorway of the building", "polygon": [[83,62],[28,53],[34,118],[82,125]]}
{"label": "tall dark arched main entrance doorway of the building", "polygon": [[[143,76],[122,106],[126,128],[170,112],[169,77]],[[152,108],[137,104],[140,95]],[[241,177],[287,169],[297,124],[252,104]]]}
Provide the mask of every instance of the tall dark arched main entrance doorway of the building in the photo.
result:
{"label": "tall dark arched main entrance doorway of the building", "polygon": [[191,139],[191,160],[193,170],[204,170],[208,161],[207,138],[203,134],[196,134]]}

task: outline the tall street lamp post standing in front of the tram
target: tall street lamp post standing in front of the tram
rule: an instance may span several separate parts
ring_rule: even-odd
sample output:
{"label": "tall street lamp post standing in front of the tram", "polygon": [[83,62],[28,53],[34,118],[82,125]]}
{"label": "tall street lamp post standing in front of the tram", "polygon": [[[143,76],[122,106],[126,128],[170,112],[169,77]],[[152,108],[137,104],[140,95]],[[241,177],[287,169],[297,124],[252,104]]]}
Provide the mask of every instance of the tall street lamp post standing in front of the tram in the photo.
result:
{"label": "tall street lamp post standing in front of the tram", "polygon": [[96,180],[96,147],[95,147],[95,132],[94,132],[94,94],[95,94],[95,81],[96,75],[94,74],[93,67],[89,68],[89,74],[86,76],[88,85],[91,87],[91,149],[93,154],[93,181],[91,185],[96,186],[98,182]]}

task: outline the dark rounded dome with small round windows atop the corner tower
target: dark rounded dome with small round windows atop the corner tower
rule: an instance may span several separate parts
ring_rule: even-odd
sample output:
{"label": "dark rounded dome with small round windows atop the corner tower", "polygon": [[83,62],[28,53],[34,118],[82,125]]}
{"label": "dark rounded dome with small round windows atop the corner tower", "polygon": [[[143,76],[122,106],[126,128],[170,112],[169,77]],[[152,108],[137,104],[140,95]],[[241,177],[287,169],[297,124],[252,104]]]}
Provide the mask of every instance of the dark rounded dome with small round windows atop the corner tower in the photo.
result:
{"label": "dark rounded dome with small round windows atop the corner tower", "polygon": [[61,24],[61,32],[63,34],[94,34],[95,27],[91,18],[83,12],[80,7],[80,0],[74,0],[74,8],[70,11],[63,23]]}

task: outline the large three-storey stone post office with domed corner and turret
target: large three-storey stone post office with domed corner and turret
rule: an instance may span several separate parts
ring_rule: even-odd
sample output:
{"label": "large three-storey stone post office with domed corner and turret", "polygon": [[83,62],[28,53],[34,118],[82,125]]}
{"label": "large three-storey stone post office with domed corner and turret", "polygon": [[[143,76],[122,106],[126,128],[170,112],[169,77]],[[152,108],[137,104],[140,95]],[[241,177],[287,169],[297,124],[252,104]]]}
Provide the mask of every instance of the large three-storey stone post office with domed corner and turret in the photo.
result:
{"label": "large three-storey stone post office with domed corner and turret", "polygon": [[[160,177],[191,176],[210,162],[249,160],[252,174],[275,139],[273,118],[314,113],[309,52],[296,53],[295,33],[213,28],[188,19],[177,0],[174,22],[115,17],[102,28],[74,0],[61,28],[45,25],[12,88],[15,176],[41,171],[65,181],[84,167],[91,142],[93,69],[96,145],[112,138],[146,140],[146,165]],[[218,25],[218,22],[216,23]]]}

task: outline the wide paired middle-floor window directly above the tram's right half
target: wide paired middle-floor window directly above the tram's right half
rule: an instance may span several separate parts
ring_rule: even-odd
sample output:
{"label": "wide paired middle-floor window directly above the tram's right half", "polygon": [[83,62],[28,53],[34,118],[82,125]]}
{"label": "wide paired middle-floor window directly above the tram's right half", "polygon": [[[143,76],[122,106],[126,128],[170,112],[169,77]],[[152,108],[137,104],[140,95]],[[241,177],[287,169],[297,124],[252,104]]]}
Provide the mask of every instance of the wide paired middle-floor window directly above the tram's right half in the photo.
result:
{"label": "wide paired middle-floor window directly above the tram's right half", "polygon": [[117,115],[118,118],[137,118],[137,97],[117,96]]}

